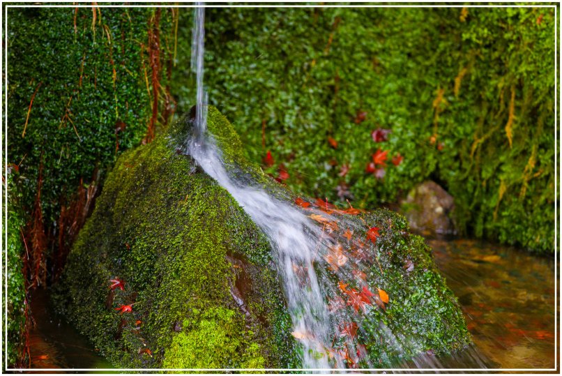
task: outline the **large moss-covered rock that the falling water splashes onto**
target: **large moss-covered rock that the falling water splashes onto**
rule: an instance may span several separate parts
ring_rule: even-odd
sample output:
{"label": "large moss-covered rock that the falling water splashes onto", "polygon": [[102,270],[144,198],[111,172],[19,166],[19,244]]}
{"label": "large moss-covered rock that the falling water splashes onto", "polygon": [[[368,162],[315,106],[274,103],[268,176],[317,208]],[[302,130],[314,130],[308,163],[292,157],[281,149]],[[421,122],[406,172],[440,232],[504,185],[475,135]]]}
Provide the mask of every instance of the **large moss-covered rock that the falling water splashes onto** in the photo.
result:
{"label": "large moss-covered rock that the falling water splashes onto", "polygon": [[[228,165],[276,195],[291,195],[245,161],[234,128],[214,107],[208,128]],[[116,366],[299,368],[302,349],[291,336],[271,246],[231,195],[183,153],[189,130],[188,121],[179,121],[119,158],[70,253],[57,305]],[[396,213],[363,218],[381,223],[385,274],[378,278],[391,296],[386,312],[364,326],[406,328],[408,338],[397,340],[416,343],[396,354],[370,338],[377,364],[427,349],[462,349],[469,343],[466,324],[423,240],[410,236]],[[414,271],[403,268],[407,260]],[[109,288],[115,278],[123,290]],[[133,303],[132,312],[116,310]]]}

